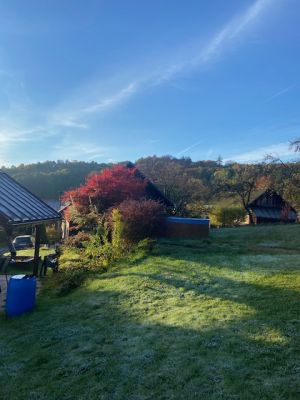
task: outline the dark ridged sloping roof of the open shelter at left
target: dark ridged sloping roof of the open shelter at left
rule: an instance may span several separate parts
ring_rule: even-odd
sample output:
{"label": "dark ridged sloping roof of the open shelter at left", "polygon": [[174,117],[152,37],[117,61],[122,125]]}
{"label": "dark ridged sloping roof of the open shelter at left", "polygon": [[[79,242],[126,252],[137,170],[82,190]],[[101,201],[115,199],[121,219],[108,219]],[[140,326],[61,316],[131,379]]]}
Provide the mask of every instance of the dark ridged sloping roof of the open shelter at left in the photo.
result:
{"label": "dark ridged sloping roof of the open shelter at left", "polygon": [[20,225],[60,219],[58,212],[0,172],[0,218],[2,223]]}

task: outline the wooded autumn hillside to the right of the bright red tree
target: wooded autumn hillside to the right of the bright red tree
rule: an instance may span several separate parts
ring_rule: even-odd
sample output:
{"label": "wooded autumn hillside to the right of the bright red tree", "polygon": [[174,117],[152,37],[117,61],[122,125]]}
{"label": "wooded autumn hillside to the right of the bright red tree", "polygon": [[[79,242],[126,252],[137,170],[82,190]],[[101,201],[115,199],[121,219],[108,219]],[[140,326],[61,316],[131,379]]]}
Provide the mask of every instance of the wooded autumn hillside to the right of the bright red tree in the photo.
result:
{"label": "wooded autumn hillside to the right of the bright red tree", "polygon": [[221,160],[193,162],[190,158],[153,156],[138,160],[136,165],[183,214],[201,214],[205,205],[245,208],[270,187],[300,209],[300,162],[223,164]]}

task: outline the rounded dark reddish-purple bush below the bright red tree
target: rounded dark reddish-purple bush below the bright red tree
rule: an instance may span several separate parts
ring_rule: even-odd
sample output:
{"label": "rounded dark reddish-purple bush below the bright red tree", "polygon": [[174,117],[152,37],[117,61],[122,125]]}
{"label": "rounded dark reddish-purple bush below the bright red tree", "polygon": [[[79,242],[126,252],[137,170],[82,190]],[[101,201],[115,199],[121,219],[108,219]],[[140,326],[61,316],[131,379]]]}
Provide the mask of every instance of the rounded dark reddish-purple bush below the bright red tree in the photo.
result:
{"label": "rounded dark reddish-purple bush below the bright red tree", "polygon": [[126,242],[136,243],[157,236],[165,215],[162,204],[154,200],[125,200],[117,208],[121,213],[122,237]]}

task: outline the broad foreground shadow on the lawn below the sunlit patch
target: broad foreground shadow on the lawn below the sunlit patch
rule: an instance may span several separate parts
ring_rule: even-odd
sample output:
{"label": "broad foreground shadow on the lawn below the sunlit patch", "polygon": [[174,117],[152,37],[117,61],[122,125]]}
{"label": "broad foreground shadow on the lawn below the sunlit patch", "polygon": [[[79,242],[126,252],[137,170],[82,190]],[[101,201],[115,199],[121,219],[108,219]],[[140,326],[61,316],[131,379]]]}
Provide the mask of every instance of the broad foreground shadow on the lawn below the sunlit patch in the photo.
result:
{"label": "broad foreground shadow on the lawn below the sunlit patch", "polygon": [[[268,288],[251,290],[273,294]],[[168,326],[149,322],[147,308],[137,310],[134,300],[120,292],[80,294],[64,306],[53,305],[55,319],[42,307],[35,316],[7,324],[12,338],[1,354],[2,398],[299,398],[296,337],[284,343],[251,339],[248,318],[206,330]],[[257,310],[257,318],[263,321],[268,312],[281,309],[279,302]]]}

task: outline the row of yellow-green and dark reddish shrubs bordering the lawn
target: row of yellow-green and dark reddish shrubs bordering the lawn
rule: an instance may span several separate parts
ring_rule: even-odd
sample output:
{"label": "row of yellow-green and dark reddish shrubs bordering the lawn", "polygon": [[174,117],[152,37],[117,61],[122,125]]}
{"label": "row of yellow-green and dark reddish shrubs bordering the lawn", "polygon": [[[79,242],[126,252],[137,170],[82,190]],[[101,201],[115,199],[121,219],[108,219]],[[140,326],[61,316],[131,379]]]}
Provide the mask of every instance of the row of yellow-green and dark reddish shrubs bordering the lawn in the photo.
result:
{"label": "row of yellow-green and dark reddish shrubs bordering the lawn", "polygon": [[94,232],[80,231],[70,237],[55,277],[58,293],[79,287],[89,273],[104,272],[116,261],[143,257],[152,247],[149,238],[156,236],[163,215],[162,205],[153,200],[126,200],[99,218]]}

